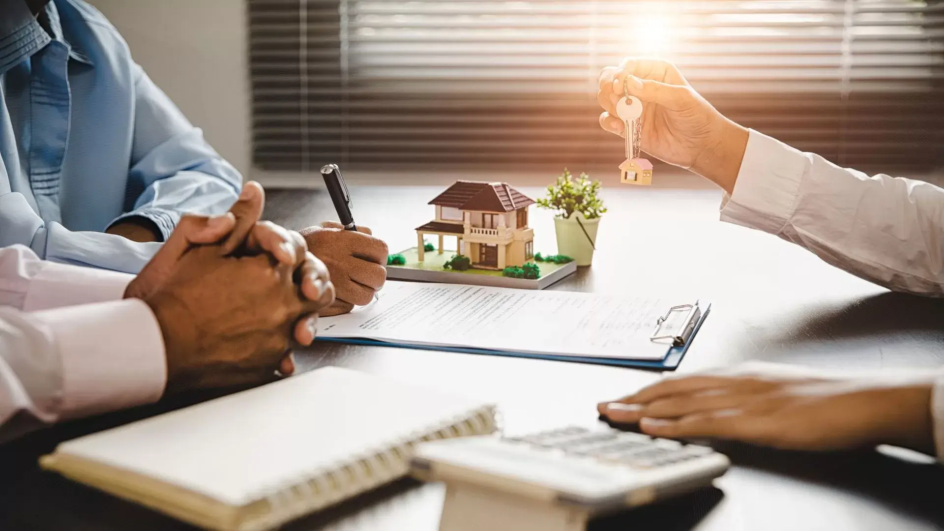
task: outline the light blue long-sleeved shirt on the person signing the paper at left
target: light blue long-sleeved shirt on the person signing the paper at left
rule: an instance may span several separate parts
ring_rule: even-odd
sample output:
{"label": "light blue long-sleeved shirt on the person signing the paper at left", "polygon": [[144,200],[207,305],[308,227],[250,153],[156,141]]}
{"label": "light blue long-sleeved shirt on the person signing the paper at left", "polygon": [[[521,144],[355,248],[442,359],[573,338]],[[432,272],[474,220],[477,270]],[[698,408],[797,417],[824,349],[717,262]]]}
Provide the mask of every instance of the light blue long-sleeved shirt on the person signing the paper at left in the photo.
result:
{"label": "light blue long-sleeved shirt on the person signing the paper at left", "polygon": [[80,0],[0,0],[0,247],[138,272],[160,243],[106,234],[142,216],[167,238],[180,214],[222,214],[242,178]]}

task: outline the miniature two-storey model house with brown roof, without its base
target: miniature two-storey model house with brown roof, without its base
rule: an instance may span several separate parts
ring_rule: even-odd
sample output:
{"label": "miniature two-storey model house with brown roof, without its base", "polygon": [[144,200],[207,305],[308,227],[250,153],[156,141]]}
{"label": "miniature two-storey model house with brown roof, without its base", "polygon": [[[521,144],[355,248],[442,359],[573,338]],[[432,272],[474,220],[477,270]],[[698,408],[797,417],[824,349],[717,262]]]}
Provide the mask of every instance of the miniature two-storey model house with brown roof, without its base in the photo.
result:
{"label": "miniature two-storey model house with brown roof, without its base", "polygon": [[457,180],[430,201],[436,219],[416,228],[417,254],[423,262],[424,237],[436,234],[443,252],[444,236],[458,239],[460,254],[480,269],[523,266],[534,256],[534,231],[528,227],[528,207],[534,199],[504,182]]}

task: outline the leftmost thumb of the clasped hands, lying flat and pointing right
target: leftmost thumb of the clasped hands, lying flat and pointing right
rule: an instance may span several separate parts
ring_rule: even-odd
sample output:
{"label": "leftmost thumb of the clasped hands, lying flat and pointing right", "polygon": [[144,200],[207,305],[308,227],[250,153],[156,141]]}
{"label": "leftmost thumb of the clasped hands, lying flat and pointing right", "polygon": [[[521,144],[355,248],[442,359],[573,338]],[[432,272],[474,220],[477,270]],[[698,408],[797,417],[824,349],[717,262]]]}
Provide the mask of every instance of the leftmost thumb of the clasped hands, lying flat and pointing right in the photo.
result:
{"label": "leftmost thumb of the clasped hands, lying flat and pointing right", "polygon": [[139,277],[159,275],[164,278],[194,245],[218,242],[232,231],[236,218],[232,214],[213,217],[206,215],[184,214],[177,223],[177,228],[160,247],[154,258],[139,273]]}

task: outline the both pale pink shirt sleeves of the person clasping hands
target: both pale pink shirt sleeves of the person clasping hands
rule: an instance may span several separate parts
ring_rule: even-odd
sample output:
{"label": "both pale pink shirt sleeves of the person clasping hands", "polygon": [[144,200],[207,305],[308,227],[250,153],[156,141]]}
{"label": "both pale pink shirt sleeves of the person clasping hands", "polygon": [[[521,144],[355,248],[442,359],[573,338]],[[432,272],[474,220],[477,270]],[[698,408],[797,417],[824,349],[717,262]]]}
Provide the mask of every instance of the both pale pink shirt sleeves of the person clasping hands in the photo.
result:
{"label": "both pale pink shirt sleeves of the person clasping hands", "polygon": [[113,275],[0,248],[0,441],[160,398],[160,326]]}

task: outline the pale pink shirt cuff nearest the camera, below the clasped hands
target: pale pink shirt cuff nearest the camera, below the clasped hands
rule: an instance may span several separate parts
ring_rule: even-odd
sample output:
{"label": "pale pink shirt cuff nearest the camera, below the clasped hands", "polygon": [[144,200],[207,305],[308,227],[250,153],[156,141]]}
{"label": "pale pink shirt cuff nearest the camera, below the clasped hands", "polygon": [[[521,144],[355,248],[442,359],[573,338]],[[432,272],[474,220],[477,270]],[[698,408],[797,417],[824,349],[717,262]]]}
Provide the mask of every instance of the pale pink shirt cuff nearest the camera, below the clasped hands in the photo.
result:
{"label": "pale pink shirt cuff nearest the camera, below the clasped hands", "polygon": [[167,380],[163,336],[142,300],[36,312],[62,359],[60,418],[85,417],[160,399]]}

